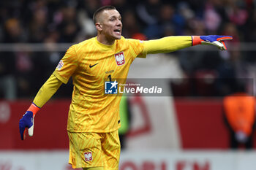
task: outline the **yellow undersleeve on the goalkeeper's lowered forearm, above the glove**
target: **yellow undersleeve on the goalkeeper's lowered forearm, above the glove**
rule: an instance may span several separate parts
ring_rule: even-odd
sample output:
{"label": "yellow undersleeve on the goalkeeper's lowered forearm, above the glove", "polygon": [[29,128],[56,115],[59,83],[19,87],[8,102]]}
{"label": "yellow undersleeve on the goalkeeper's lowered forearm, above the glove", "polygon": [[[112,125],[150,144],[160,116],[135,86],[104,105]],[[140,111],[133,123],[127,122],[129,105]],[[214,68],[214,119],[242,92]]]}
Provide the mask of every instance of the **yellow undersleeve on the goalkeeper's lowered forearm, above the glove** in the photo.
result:
{"label": "yellow undersleeve on the goalkeeper's lowered forearm, above the glove", "polygon": [[34,98],[33,103],[37,107],[42,107],[61,86],[62,82],[57,79],[56,76],[51,74],[50,78],[42,85],[42,88],[37,93],[37,96]]}

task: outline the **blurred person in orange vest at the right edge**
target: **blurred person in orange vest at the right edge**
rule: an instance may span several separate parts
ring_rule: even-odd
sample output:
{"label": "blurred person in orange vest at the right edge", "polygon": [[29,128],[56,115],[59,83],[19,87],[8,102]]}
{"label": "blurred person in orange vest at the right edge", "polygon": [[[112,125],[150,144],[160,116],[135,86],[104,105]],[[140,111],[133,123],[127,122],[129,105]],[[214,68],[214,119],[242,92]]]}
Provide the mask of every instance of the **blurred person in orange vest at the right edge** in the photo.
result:
{"label": "blurred person in orange vest at the right edge", "polygon": [[255,97],[246,93],[239,85],[236,93],[223,99],[225,123],[230,133],[230,148],[238,149],[240,145],[249,150],[253,148],[255,131]]}

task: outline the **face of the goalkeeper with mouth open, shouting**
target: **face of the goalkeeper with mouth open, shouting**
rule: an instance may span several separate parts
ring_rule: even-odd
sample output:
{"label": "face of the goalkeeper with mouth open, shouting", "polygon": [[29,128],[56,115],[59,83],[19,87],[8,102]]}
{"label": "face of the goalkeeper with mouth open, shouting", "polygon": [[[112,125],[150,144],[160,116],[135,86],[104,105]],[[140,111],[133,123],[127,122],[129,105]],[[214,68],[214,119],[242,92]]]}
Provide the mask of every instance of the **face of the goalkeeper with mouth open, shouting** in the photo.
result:
{"label": "face of the goalkeeper with mouth open, shouting", "polygon": [[121,39],[121,15],[116,9],[103,11],[99,23],[107,39]]}

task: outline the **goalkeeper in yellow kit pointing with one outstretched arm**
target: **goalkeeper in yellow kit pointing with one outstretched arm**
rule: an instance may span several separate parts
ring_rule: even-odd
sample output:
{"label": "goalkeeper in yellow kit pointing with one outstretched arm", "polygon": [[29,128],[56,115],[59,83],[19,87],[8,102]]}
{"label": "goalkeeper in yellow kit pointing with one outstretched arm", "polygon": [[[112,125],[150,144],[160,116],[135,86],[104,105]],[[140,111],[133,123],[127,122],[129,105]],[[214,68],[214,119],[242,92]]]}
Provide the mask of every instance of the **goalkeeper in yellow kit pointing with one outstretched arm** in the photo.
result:
{"label": "goalkeeper in yellow kit pointing with one outstretched arm", "polygon": [[74,169],[117,170],[121,97],[105,95],[105,81],[126,79],[136,57],[146,58],[147,54],[170,53],[195,45],[215,45],[226,50],[224,40],[232,36],[125,39],[121,36],[121,15],[113,6],[97,9],[93,20],[97,36],[69,47],[20,119],[20,137],[25,139],[26,129],[29,129],[29,136],[33,136],[34,116],[61,84],[72,77],[74,88],[67,122],[69,163]]}

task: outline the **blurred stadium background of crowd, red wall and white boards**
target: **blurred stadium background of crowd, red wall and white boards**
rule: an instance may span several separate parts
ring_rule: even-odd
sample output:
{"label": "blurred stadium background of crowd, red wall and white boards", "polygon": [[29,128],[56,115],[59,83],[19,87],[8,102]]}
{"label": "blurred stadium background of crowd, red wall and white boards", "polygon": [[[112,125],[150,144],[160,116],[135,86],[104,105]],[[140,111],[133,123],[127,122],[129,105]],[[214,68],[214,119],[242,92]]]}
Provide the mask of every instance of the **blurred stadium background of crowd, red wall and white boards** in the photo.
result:
{"label": "blurred stadium background of crowd, red wall and white boards", "polygon": [[255,94],[253,0],[1,1],[0,169],[71,169],[66,131],[71,81],[40,110],[34,136],[25,142],[18,120],[65,50],[96,35],[92,14],[106,4],[121,12],[126,38],[233,36],[226,52],[198,46],[135,60],[129,78],[168,79],[170,95],[129,98],[132,120],[120,169],[254,169],[255,150],[231,151],[222,117],[222,96],[233,92],[234,82]]}

